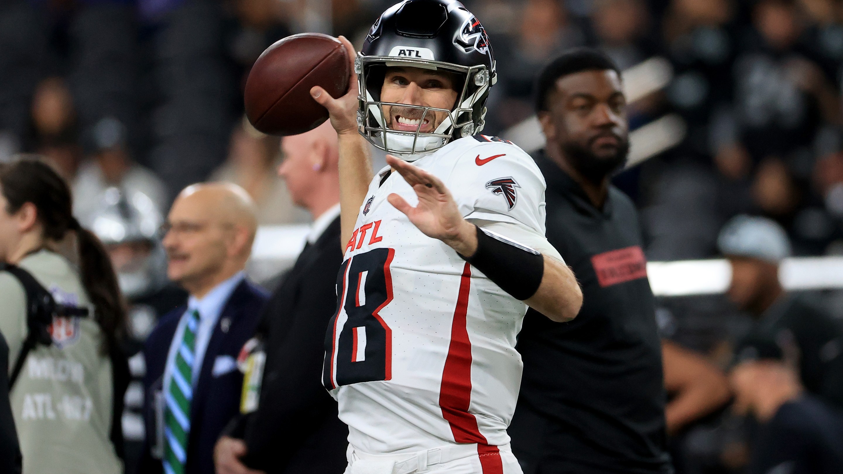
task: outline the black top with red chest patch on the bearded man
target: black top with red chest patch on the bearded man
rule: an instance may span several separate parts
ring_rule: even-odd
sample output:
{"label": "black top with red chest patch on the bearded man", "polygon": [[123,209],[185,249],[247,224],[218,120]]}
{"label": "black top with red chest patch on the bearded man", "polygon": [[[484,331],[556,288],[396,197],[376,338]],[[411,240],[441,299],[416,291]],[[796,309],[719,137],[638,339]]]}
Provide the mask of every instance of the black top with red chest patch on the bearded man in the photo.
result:
{"label": "black top with red chest patch on the bearded man", "polygon": [[540,152],[547,239],[583,287],[566,323],[534,310],[518,352],[524,377],[509,428],[524,474],[671,472],[655,307],[641,228],[614,186],[603,209]]}

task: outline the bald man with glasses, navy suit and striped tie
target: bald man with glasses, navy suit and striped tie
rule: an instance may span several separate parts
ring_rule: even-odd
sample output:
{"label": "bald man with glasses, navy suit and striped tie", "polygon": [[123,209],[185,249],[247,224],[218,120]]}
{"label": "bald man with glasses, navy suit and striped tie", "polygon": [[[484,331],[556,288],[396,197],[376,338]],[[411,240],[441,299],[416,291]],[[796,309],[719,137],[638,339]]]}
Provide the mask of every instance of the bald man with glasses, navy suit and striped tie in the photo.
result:
{"label": "bald man with glasses, navy suit and striped tie", "polygon": [[244,276],[255,204],[239,186],[188,186],[164,227],[167,275],[190,298],[158,321],[144,347],[140,471],[212,474],[214,444],[239,407],[236,359],[268,296]]}

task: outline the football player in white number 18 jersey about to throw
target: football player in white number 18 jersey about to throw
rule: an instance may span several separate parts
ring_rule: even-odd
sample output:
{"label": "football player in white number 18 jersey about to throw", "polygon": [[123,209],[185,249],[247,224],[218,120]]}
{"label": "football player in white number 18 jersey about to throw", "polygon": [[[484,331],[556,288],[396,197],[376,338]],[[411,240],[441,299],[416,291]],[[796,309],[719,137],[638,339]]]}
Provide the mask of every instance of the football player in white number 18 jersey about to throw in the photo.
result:
{"label": "football player in white number 18 jersey about to throw", "polygon": [[[489,39],[453,0],[384,12],[349,92],[311,94],[340,139],[345,261],[323,380],[349,426],[346,472],[520,473],[507,425],[527,306],[565,321],[582,294],[545,240],[545,180],[480,135]],[[373,175],[368,143],[389,164]]]}

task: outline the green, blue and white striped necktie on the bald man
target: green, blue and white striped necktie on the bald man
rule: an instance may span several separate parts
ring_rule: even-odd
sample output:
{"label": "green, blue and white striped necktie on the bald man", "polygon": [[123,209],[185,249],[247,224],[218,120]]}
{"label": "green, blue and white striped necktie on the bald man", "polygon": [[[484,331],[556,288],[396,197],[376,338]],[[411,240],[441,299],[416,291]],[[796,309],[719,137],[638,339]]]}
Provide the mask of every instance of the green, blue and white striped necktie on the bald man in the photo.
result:
{"label": "green, blue and white striped necktie on the bald man", "polygon": [[185,333],[175,353],[175,367],[169,380],[164,410],[164,472],[184,474],[187,461],[187,439],[191,433],[191,400],[193,399],[193,356],[196,353],[196,329],[199,311],[187,315]]}

